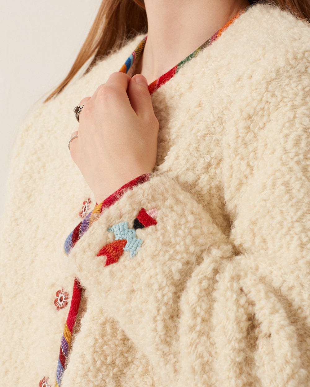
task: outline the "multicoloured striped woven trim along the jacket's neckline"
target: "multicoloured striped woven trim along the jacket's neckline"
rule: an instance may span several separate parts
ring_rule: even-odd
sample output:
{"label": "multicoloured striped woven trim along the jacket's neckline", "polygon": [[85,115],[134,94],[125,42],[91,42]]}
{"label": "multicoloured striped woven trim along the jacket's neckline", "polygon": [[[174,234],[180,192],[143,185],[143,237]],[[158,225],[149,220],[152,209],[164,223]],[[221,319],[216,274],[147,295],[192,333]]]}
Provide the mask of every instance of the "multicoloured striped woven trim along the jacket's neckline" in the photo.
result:
{"label": "multicoloured striped woven trim along the jacket's neckline", "polygon": [[[210,46],[212,45],[212,43],[219,39],[219,37],[222,35],[222,33],[236,20],[238,19],[238,17],[242,14],[244,14],[246,12],[246,10],[248,10],[252,5],[250,5],[248,8],[242,10],[242,11],[239,11],[238,14],[236,14],[229,22],[227,22],[225,24],[225,26],[223,26],[222,28],[219,29],[219,31],[217,31],[213,36],[211,36],[211,38],[209,38],[205,43],[203,43],[203,45],[201,45],[200,47],[197,48],[197,50],[195,50],[193,53],[191,53],[190,55],[188,55],[188,57],[186,57],[185,59],[183,59],[178,65],[174,66],[173,68],[171,68],[171,70],[167,71],[164,75],[162,75],[161,77],[157,78],[156,80],[154,80],[154,82],[150,83],[148,85],[148,90],[150,91],[150,94],[152,94],[154,91],[156,91],[160,86],[162,86],[163,84],[165,84],[169,79],[171,79],[172,77],[174,77],[174,75],[177,74],[177,72],[180,70],[180,68],[182,68],[185,63],[189,62],[190,60],[192,60],[193,58],[195,58],[199,53],[200,51],[202,51],[204,48],[206,48],[207,46]],[[147,39],[147,36],[145,36],[145,38],[143,38],[141,40],[141,42],[139,43],[138,47],[136,48],[136,50],[133,51],[133,53],[130,55],[130,57],[126,60],[125,64],[122,65],[122,68],[121,70],[119,70],[120,72],[124,72],[127,74],[129,68],[131,68],[131,66],[133,65],[134,61],[140,57],[140,55],[143,53],[143,50],[144,50],[144,47],[145,47],[145,42],[146,42],[146,39]]]}

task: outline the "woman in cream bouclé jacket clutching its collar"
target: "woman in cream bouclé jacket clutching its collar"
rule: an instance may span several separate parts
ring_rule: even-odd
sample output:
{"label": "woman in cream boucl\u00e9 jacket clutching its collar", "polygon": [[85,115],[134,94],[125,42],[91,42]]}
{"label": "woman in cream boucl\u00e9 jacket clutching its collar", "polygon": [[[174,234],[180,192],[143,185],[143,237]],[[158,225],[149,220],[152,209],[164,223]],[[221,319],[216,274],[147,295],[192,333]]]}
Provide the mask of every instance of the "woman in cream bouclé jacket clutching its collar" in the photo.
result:
{"label": "woman in cream boucl\u00e9 jacket clutching its collar", "polygon": [[2,383],[308,386],[309,25],[243,0],[145,8],[146,43],[142,8],[103,2],[17,142]]}

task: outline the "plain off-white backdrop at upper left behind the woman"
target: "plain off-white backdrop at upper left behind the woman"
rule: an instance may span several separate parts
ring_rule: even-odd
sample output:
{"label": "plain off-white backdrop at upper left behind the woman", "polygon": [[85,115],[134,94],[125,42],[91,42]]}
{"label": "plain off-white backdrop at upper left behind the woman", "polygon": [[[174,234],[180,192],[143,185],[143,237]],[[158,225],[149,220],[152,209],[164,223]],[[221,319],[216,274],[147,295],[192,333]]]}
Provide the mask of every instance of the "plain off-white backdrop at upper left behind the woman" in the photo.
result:
{"label": "plain off-white backdrop at upper left behind the woman", "polygon": [[69,72],[100,3],[0,0],[0,217],[18,128]]}

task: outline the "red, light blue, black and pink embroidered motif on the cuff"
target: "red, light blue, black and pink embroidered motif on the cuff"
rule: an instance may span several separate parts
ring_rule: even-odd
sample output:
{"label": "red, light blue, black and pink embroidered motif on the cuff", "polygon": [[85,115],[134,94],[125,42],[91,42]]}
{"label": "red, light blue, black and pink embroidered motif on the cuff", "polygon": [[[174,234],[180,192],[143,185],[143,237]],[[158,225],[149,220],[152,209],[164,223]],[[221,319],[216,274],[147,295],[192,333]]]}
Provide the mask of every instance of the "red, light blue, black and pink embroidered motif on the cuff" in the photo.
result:
{"label": "red, light blue, black and pink embroidered motif on the cuff", "polygon": [[157,224],[156,216],[157,210],[155,208],[148,212],[141,208],[139,214],[134,219],[133,228],[128,227],[128,222],[121,222],[109,227],[107,231],[114,233],[115,241],[103,246],[98,252],[97,257],[100,257],[100,255],[107,257],[105,266],[118,262],[124,250],[130,252],[130,258],[135,257],[143,242],[142,239],[137,238],[136,229],[155,226]]}

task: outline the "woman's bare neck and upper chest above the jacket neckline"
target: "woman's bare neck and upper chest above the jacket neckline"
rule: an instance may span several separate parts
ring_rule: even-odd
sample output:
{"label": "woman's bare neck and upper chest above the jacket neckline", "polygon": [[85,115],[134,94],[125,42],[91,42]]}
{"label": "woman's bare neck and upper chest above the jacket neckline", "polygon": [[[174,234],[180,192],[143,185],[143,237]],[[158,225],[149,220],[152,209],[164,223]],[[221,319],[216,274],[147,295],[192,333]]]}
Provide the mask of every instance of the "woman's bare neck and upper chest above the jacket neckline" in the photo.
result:
{"label": "woman's bare neck and upper chest above the jacket neckline", "polygon": [[248,0],[145,0],[148,38],[135,72],[153,82],[248,5]]}

